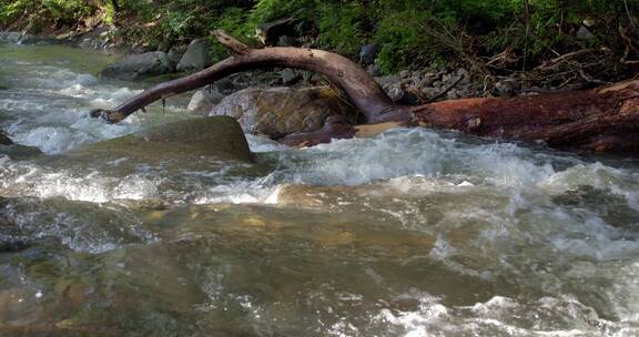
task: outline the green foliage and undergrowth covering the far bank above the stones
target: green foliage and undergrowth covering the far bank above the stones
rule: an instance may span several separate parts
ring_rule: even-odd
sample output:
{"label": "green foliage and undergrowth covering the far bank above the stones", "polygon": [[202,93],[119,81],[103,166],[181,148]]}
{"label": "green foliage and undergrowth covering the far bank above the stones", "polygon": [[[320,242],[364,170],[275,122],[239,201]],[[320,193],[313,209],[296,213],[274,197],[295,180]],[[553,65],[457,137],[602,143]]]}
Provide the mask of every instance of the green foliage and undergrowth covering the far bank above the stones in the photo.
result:
{"label": "green foliage and undergrowth covering the far bank above the stones", "polygon": [[[529,3],[529,11],[525,3]],[[639,0],[0,0],[0,25],[37,14],[57,23],[91,16],[121,18],[129,41],[165,48],[224,29],[256,43],[260,23],[294,18],[306,44],[355,55],[359,45],[381,45],[379,65],[394,72],[412,65],[487,60],[506,50],[526,67],[565,52],[621,45]],[[628,6],[628,11],[626,10]],[[529,16],[527,14],[529,13]],[[595,37],[576,38],[584,20]],[[116,20],[115,20],[116,21]],[[215,45],[215,44],[213,44]],[[225,57],[213,47],[217,58]],[[520,67],[521,64],[517,64]]]}

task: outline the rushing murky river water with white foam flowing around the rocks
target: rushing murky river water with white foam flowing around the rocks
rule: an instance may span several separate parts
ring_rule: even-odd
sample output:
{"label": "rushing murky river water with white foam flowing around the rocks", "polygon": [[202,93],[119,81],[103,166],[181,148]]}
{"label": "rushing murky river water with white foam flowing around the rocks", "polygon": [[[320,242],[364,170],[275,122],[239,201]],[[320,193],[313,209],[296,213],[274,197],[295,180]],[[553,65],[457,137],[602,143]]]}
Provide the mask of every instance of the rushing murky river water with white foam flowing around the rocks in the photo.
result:
{"label": "rushing murky river water with white foam flowing around the rocks", "polygon": [[[0,44],[0,336],[639,336],[639,163],[395,130],[256,164],[69,160],[110,59]],[[90,149],[90,147],[89,147]]]}

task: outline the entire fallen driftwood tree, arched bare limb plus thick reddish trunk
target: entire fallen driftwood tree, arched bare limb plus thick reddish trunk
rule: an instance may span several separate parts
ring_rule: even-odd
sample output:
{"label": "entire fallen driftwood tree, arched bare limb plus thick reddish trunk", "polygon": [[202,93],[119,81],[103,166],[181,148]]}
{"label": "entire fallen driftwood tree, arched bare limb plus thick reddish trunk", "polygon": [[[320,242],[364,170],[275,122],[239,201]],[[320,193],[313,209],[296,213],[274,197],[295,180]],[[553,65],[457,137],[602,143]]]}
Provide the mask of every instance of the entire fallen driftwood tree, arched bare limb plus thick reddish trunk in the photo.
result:
{"label": "entire fallen driftwood tree, arched bare limb plus thick reddish trunk", "polygon": [[92,115],[118,123],[154,101],[204,86],[232,73],[258,68],[294,68],[322,73],[339,86],[362,112],[364,124],[352,125],[343,119],[328,118],[322,130],[278,140],[290,145],[314,145],[336,137],[419,125],[505,140],[541,141],[565,150],[639,152],[639,81],[508,99],[395,105],[367,72],[338,54],[301,48],[250,49],[222,31],[214,34],[235,55],[192,75],[158,84],[114,110],[93,111]]}

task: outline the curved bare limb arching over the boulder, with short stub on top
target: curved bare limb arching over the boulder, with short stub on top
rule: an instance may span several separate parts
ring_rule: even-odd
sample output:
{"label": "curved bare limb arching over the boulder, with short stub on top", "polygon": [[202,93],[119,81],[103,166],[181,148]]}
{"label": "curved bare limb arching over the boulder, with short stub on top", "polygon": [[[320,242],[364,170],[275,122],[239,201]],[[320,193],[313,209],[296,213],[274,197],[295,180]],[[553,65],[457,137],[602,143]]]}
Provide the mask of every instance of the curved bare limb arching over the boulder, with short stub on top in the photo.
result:
{"label": "curved bare limb arching over the boulder, with short stub on top", "polygon": [[367,123],[406,119],[408,115],[407,109],[395,106],[366,71],[342,55],[323,50],[288,47],[248,49],[224,32],[216,31],[215,37],[236,55],[192,75],[148,89],[112,111],[95,110],[92,115],[118,123],[158,100],[204,86],[236,72],[260,68],[294,68],[324,74],[344,90],[355,106],[362,111]]}

